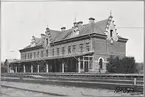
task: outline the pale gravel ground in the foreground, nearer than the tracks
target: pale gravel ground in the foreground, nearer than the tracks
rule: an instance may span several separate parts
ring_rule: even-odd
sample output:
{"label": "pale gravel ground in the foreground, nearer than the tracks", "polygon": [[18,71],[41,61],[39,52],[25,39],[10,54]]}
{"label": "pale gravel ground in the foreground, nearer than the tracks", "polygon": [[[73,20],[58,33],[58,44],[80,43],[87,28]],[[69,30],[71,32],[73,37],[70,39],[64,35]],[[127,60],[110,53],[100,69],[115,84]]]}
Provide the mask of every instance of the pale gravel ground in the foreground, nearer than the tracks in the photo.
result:
{"label": "pale gravel ground in the foreground, nearer than the tracks", "polygon": [[[16,86],[24,89],[68,95],[69,97],[131,96],[131,94],[129,93],[122,93],[122,92],[114,93],[114,90],[105,90],[105,89],[42,85],[42,84],[32,84],[32,83],[16,83],[16,82],[6,82],[6,81],[2,81],[2,85],[13,86],[13,87]],[[2,93],[7,95],[2,95],[1,97],[56,97],[52,95],[16,90],[12,88],[2,88]]]}

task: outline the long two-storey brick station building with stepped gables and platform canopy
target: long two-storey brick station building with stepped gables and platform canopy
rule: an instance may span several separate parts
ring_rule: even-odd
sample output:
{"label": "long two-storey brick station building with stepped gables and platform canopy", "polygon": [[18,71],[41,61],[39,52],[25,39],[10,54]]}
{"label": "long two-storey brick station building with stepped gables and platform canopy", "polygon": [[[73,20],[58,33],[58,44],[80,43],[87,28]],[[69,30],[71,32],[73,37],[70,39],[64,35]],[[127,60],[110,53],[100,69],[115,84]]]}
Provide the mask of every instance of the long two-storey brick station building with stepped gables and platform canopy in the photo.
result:
{"label": "long two-storey brick station building with stepped gables and platform canopy", "polygon": [[15,72],[105,73],[110,56],[124,57],[128,39],[118,35],[113,16],[88,24],[74,22],[60,31],[46,28],[40,38],[20,50],[21,60],[12,62]]}

